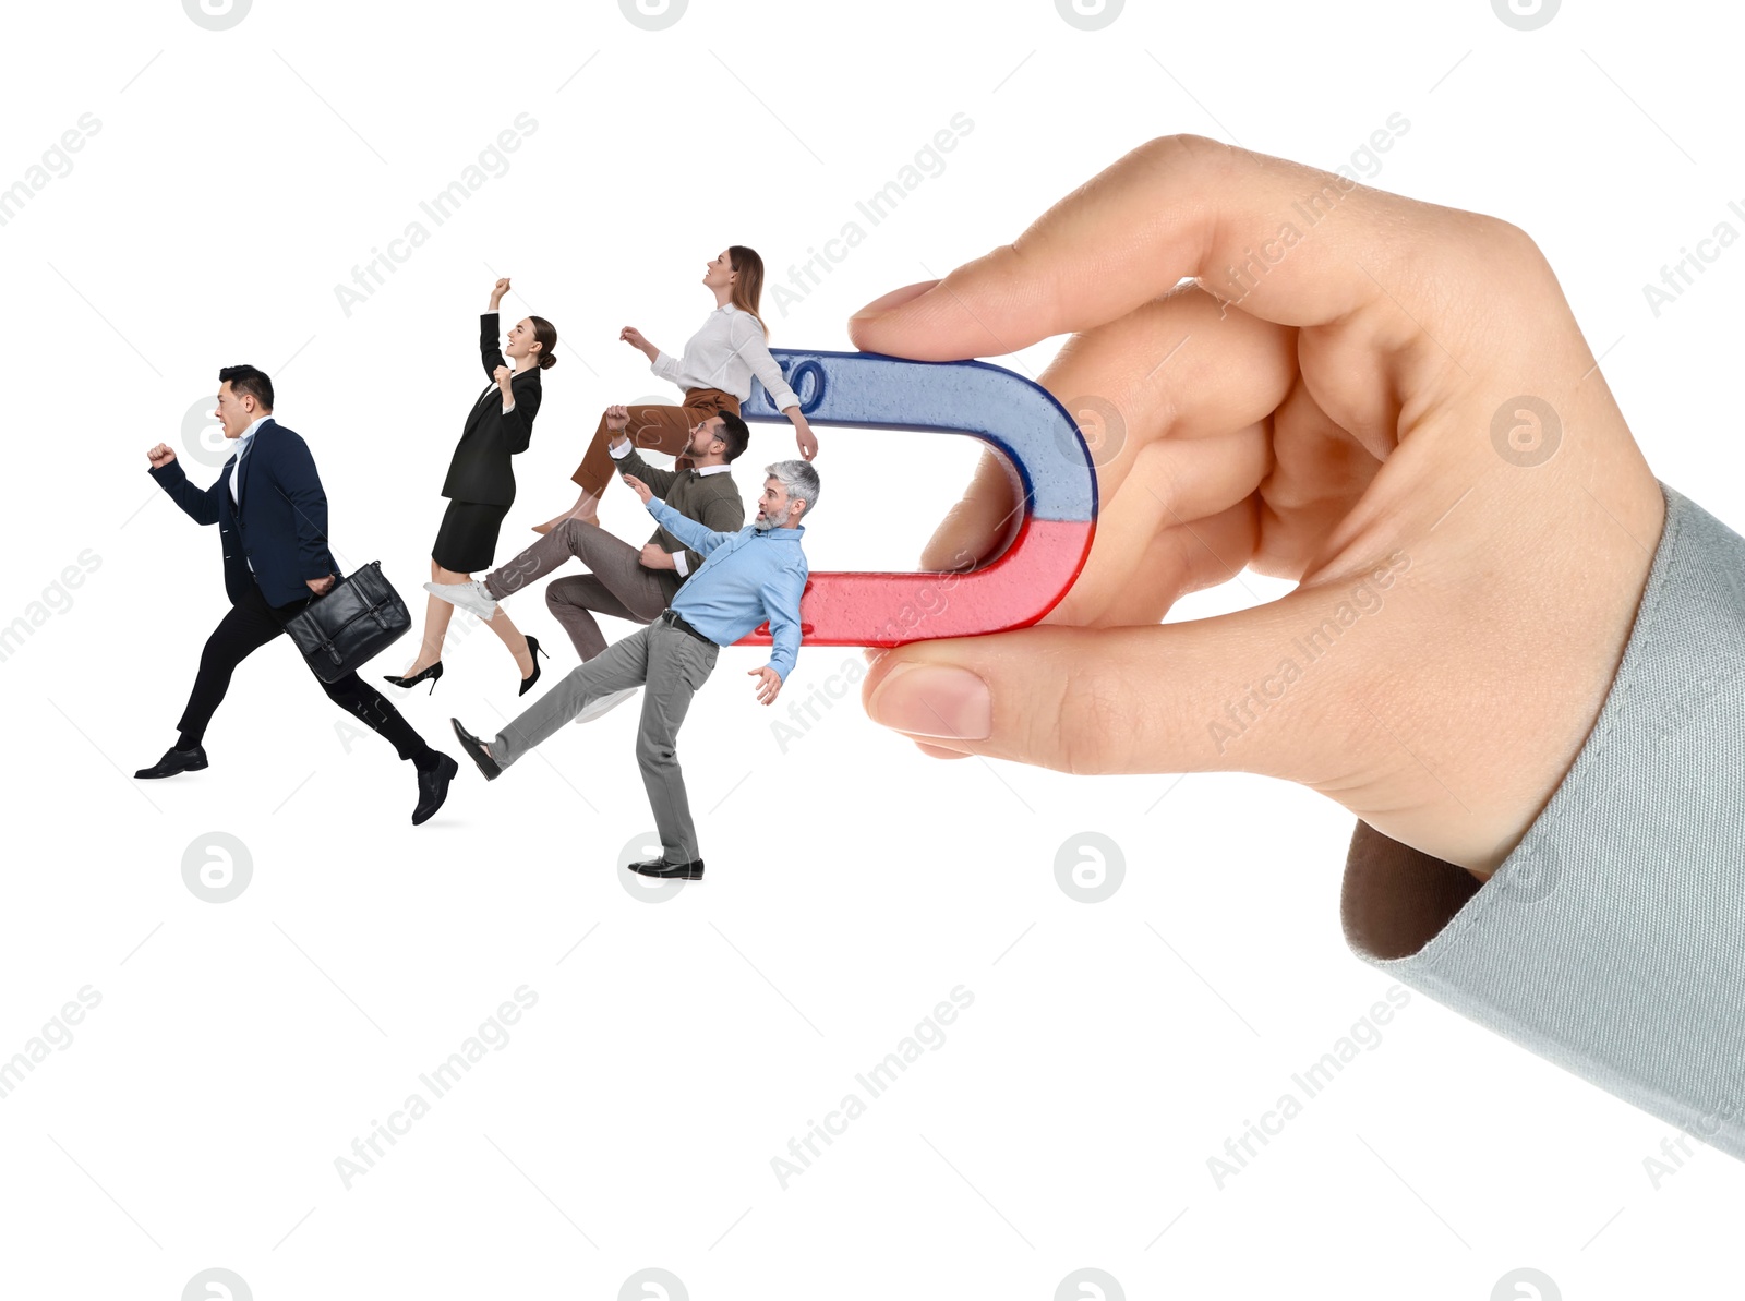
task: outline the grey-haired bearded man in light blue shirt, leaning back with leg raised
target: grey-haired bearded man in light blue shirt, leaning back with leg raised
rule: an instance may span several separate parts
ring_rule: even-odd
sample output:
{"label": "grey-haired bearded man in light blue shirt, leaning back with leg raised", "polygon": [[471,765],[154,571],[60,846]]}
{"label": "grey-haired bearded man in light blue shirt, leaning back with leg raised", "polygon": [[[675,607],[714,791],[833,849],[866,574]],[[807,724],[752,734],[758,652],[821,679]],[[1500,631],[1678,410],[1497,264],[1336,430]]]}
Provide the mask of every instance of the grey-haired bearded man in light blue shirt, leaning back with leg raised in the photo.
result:
{"label": "grey-haired bearded man in light blue shirt, leaning back with leg raised", "polygon": [[818,501],[818,471],[804,460],[778,460],[764,469],[770,478],[757,501],[757,521],[736,534],[714,532],[686,520],[642,480],[625,474],[625,483],[635,488],[649,514],[703,555],[703,565],[654,623],[572,670],[490,741],[473,736],[459,719],[450,719],[461,748],[492,781],[590,701],[646,684],[637,762],[654,806],[661,858],[632,865],[644,875],[686,881],[703,875],[684,776],[679,773],[677,736],[691,698],[715,668],[721,647],[770,621],[770,663],[749,670],[757,678],[763,705],[775,701],[799,654],[799,596],[808,574],[799,546],[806,530],[799,520]]}

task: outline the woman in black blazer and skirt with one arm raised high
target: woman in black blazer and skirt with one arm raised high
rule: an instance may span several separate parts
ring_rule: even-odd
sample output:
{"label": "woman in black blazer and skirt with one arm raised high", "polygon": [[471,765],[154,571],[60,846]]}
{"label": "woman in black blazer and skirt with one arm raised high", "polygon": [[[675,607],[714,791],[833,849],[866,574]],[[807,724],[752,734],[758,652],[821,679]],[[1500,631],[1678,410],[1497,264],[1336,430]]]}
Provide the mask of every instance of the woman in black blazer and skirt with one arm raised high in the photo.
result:
{"label": "woman in black blazer and skirt with one arm raised high", "polygon": [[[475,570],[490,569],[497,549],[497,528],[515,501],[515,469],[510,457],[527,450],[534,417],[539,413],[539,371],[557,364],[551,349],[557,330],[539,316],[522,317],[510,330],[508,356],[497,351],[497,307],[510,291],[510,281],[497,281],[490,291],[490,310],[478,317],[478,352],[492,385],[485,389],[466,417],[461,441],[448,462],[441,495],[448,509],[431,548],[431,582],[471,582]],[[448,633],[454,605],[431,596],[424,603],[424,642],[419,657],[403,677],[389,677],[396,687],[429,682],[436,691],[441,677],[441,644]],[[503,638],[522,670],[522,692],[539,680],[539,640],[522,637],[506,610],[497,610],[485,626]]]}

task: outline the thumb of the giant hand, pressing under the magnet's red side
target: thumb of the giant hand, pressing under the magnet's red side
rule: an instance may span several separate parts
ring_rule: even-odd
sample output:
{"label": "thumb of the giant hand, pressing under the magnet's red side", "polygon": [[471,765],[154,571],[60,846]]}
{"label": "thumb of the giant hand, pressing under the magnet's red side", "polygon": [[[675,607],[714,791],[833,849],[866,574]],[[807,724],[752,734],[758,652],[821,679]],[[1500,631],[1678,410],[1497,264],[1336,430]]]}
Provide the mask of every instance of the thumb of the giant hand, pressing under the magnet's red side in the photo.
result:
{"label": "thumb of the giant hand, pressing under the magnet's red side", "polygon": [[1382,560],[1356,581],[1211,619],[911,642],[876,654],[860,701],[939,757],[1063,773],[1239,771],[1326,788],[1361,766],[1375,729],[1358,701],[1370,668],[1408,637],[1391,609],[1403,602],[1398,569]]}

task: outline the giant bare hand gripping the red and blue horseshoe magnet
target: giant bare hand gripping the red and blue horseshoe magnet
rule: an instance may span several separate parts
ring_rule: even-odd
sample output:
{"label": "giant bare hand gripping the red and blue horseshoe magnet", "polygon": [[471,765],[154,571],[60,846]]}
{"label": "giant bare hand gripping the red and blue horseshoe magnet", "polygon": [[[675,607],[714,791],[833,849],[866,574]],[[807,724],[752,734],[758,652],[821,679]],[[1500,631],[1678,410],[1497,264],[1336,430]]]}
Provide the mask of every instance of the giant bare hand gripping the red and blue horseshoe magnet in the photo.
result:
{"label": "giant bare hand gripping the red and blue horseshoe magnet", "polygon": [[[1061,603],[872,656],[874,720],[937,757],[1298,781],[1478,877],[1562,783],[1665,499],[1516,227],[1164,136],[848,324],[927,361],[1071,333],[1040,384],[1106,424]],[[923,569],[1012,514],[984,453]],[[1298,586],[1159,624],[1244,565]]]}

